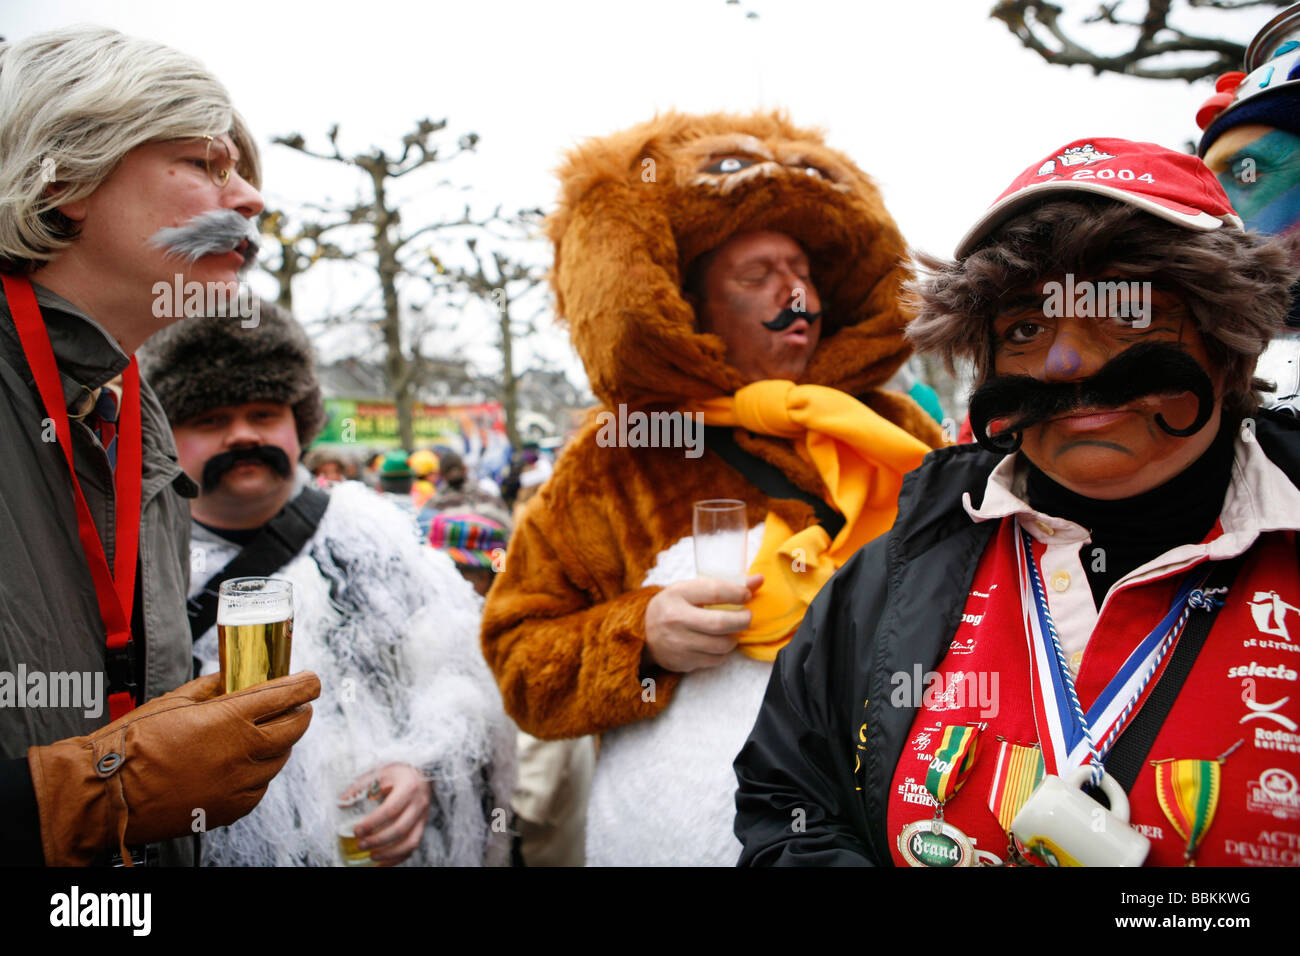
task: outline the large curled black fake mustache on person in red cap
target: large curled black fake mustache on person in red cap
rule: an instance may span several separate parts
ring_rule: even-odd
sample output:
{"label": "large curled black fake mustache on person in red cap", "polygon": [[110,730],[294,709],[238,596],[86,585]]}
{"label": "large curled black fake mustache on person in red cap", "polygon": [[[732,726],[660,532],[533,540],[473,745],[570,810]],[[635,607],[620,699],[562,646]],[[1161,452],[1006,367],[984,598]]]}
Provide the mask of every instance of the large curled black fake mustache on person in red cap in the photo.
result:
{"label": "large curled black fake mustache on person in red cap", "polygon": [[[1199,402],[1192,424],[1174,428],[1158,412],[1156,424],[1167,434],[1186,438],[1201,431],[1214,414],[1214,384],[1182,349],[1144,342],[1119,352],[1084,381],[1044,382],[1027,375],[991,378],[971,394],[971,431],[982,446],[1008,455],[1020,447],[1024,429],[1048,419],[1083,408],[1118,408],[1147,395],[1182,392],[1191,392]],[[989,434],[989,423],[1002,418],[1011,423],[997,434]]]}

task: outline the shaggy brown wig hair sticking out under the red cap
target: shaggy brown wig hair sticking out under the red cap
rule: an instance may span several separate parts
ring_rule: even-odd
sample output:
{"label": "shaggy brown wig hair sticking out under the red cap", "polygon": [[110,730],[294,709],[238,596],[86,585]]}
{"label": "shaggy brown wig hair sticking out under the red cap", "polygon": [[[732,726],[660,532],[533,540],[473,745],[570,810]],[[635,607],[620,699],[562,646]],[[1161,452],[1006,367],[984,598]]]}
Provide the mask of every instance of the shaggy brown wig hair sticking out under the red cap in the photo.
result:
{"label": "shaggy brown wig hair sticking out under the red cap", "polygon": [[1292,248],[1230,226],[1187,229],[1101,196],[1052,199],[1008,220],[958,261],[914,254],[923,272],[907,287],[916,317],[906,334],[950,372],[971,362],[980,385],[992,373],[993,319],[1009,294],[1067,272],[1150,281],[1187,304],[1225,373],[1225,406],[1249,414],[1253,389],[1274,388],[1253,377],[1254,363],[1291,306]]}

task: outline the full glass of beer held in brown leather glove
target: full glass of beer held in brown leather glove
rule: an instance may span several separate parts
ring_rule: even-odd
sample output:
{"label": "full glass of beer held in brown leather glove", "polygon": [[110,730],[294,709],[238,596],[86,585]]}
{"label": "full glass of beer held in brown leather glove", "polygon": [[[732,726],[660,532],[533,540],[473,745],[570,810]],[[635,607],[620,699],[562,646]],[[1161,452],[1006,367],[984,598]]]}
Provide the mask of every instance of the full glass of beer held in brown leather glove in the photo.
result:
{"label": "full glass of beer held in brown leather glove", "polygon": [[289,675],[294,585],[273,578],[231,578],[217,597],[217,654],[226,693]]}

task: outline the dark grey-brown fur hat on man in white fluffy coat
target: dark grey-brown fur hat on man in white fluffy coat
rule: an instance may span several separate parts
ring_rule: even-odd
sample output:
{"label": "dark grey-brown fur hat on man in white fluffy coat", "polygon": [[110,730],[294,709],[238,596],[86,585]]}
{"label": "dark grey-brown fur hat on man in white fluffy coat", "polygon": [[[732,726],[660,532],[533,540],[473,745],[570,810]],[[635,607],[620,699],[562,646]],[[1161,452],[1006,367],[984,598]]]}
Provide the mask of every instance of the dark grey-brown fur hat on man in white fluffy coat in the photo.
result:
{"label": "dark grey-brown fur hat on man in white fluffy coat", "polygon": [[289,405],[306,449],[325,427],[312,343],[289,312],[259,300],[257,324],[238,317],[182,319],[138,352],[143,375],[173,425],[209,408]]}

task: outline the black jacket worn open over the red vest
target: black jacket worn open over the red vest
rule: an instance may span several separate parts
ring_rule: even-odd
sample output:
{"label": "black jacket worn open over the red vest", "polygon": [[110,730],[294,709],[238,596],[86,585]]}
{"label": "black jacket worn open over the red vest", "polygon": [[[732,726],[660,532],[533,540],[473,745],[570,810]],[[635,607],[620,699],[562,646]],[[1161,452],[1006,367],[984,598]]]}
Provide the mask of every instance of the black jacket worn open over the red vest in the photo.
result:
{"label": "black jacket worn open over the red vest", "polygon": [[[1300,484],[1300,423],[1256,423],[1261,449]],[[889,704],[890,675],[936,670],[946,654],[998,527],[971,522],[962,494],[978,506],[998,460],[978,445],[927,455],[893,529],[836,572],[776,658],[734,763],[741,865],[890,865],[889,786],[916,715]]]}

